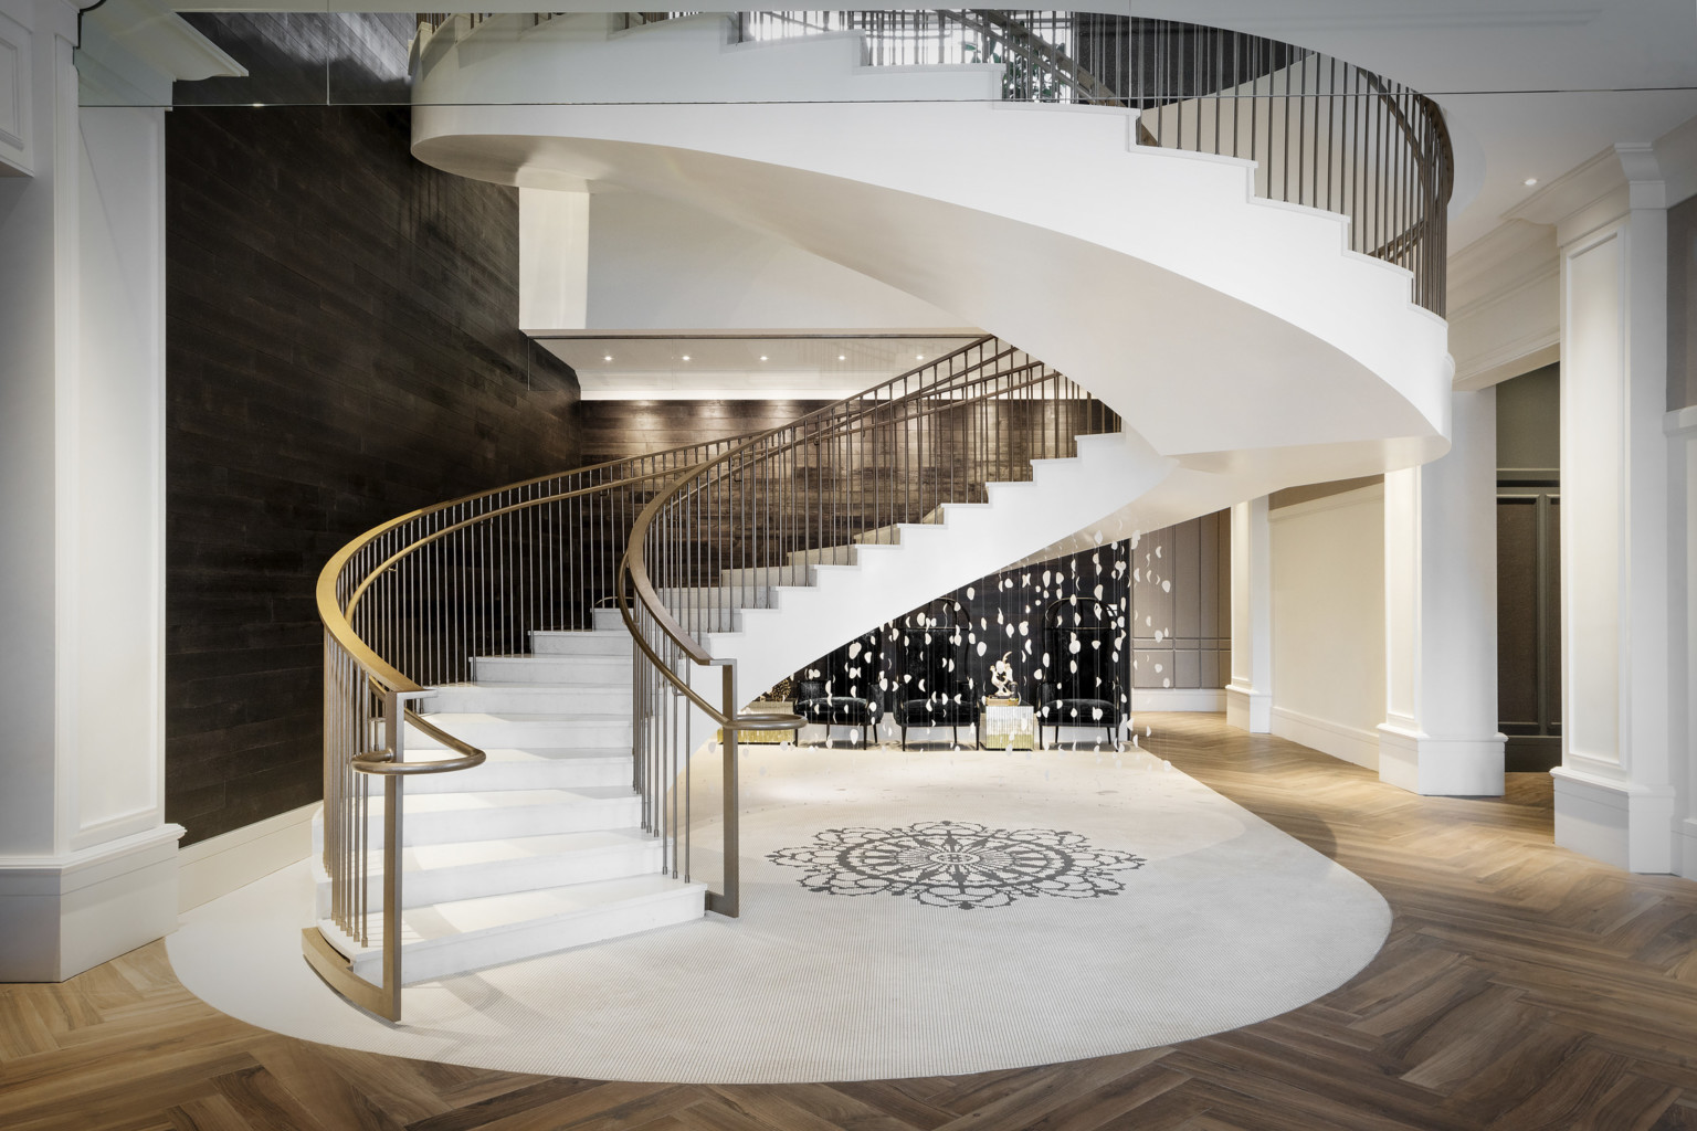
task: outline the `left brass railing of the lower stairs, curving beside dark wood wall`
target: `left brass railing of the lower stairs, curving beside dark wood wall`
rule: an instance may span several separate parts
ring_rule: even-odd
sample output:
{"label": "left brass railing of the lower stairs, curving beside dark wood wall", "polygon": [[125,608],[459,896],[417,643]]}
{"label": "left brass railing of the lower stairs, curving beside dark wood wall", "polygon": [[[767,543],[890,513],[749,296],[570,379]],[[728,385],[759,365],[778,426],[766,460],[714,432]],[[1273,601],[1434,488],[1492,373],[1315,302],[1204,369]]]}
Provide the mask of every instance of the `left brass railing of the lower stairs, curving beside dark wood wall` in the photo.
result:
{"label": "left brass railing of the lower stairs, curving beside dark wood wall", "polygon": [[[957,366],[959,358],[974,349],[983,351],[989,341],[993,339],[977,337],[945,353],[932,365]],[[1013,353],[1003,349],[996,358],[1011,358]],[[864,390],[860,397],[871,404],[888,404],[911,385],[913,373],[925,368],[920,366],[920,370],[879,382]],[[803,419],[813,419],[825,412],[830,409],[816,410]],[[757,434],[767,431],[770,429]],[[384,641],[395,632],[421,631],[426,634],[426,644],[431,641],[438,644],[428,649],[429,663],[424,666],[443,668],[446,665],[446,668],[453,668],[455,663],[443,656],[443,648],[482,641],[494,621],[502,616],[502,609],[512,604],[511,592],[487,590],[492,602],[487,609],[462,607],[451,614],[438,614],[428,604],[409,609],[406,604],[409,593],[416,600],[417,592],[412,590],[429,583],[436,587],[433,590],[436,597],[448,595],[440,577],[443,570],[451,568],[462,571],[465,578],[477,578],[489,571],[501,575],[519,554],[531,558],[541,553],[552,554],[550,539],[560,536],[562,527],[548,526],[545,519],[550,515],[567,515],[567,526],[577,521],[570,515],[592,522],[592,529],[574,527],[574,539],[577,534],[624,538],[621,515],[630,514],[626,504],[636,502],[648,490],[664,487],[680,468],[697,466],[703,463],[703,456],[736,448],[743,439],[745,436],[726,436],[657,453],[608,460],[421,507],[372,527],[341,546],[326,563],[317,578],[316,604],[324,624],[326,648],[324,863],[331,875],[329,919],[356,944],[370,943],[368,924],[378,909],[373,905],[367,883],[370,872],[367,858],[380,855],[384,877],[380,907],[382,983],[373,985],[355,975],[351,963],[339,956],[317,928],[309,928],[304,933],[302,950],[314,970],[350,1000],[385,1017],[399,1019],[400,926],[397,916],[402,905],[404,872],[399,866],[404,797],[400,783],[407,777],[468,770],[487,758],[482,749],[446,733],[407,704],[407,700],[428,694],[428,683],[441,680],[429,678],[431,671],[421,673],[414,663],[404,661],[406,648],[397,651]],[[584,509],[577,510],[579,505]],[[512,538],[512,529],[507,524],[514,522],[529,522],[531,544],[524,543],[526,529],[519,531],[518,539]],[[538,531],[541,532],[540,543],[536,541]],[[577,541],[570,541],[560,548],[560,553],[577,553],[575,546]],[[421,553],[426,549],[429,553]],[[577,577],[580,583],[592,585],[594,582],[587,578],[594,575],[619,585],[619,561],[609,563],[609,571],[604,575],[592,570],[591,565],[592,558],[579,560]],[[521,580],[540,583],[540,575]],[[587,595],[558,592],[558,580],[548,577],[555,592],[540,599],[543,609],[563,609],[563,602],[575,605],[579,595]],[[502,575],[501,582],[511,583],[511,578]],[[373,593],[380,599],[375,599]],[[538,600],[535,593],[528,593],[528,597],[533,602]],[[441,616],[456,619],[445,629]],[[433,617],[434,622],[431,622]],[[431,624],[419,629],[421,621]],[[521,621],[521,626],[524,622],[535,624]],[[361,624],[375,626],[377,636],[368,638],[361,632]],[[543,622],[538,627],[550,627],[550,624]],[[499,629],[501,634],[507,631],[504,624]],[[431,632],[441,639],[436,641],[429,636]],[[443,632],[446,634],[443,636]],[[400,639],[407,648],[416,648],[416,644],[407,643],[409,638],[402,636]],[[742,729],[782,729],[799,724],[799,719],[750,714],[735,719],[735,724]],[[407,760],[404,753],[407,729],[440,743],[450,751],[450,756]],[[367,821],[370,797],[363,782],[373,778],[384,783],[380,844],[375,843]]]}

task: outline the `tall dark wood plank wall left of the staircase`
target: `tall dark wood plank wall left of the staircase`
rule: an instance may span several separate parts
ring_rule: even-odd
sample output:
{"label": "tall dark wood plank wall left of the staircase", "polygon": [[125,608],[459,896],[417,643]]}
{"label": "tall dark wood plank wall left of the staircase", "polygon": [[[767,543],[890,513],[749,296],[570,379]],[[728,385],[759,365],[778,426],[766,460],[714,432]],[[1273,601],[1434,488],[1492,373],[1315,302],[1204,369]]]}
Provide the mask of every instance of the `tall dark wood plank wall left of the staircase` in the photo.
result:
{"label": "tall dark wood plank wall left of the staircase", "polygon": [[319,797],[329,554],[580,463],[577,380],[518,332],[518,197],[406,110],[176,109],[166,131],[166,816]]}

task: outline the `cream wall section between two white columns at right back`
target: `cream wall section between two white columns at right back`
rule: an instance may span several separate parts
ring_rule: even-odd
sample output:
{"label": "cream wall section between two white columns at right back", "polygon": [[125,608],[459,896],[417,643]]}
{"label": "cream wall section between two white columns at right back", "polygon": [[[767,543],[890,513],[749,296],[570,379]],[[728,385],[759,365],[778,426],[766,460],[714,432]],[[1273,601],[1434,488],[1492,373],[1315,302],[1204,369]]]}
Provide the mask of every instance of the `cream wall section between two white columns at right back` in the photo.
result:
{"label": "cream wall section between two white columns at right back", "polygon": [[1385,492],[1280,507],[1273,532],[1273,733],[1378,768],[1385,721]]}

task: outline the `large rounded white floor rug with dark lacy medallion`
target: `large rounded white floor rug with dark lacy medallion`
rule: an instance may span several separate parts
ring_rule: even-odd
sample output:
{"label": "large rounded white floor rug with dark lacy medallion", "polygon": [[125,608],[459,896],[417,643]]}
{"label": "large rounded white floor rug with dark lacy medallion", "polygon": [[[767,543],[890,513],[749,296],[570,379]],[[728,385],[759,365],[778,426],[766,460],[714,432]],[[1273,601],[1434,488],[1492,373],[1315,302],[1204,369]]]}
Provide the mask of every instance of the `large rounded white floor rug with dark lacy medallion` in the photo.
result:
{"label": "large rounded white floor rug with dark lacy medallion", "polygon": [[214,1007],[326,1045],[776,1084],[1234,1029],[1336,989],[1390,929],[1364,880],[1139,749],[743,751],[736,921],[409,987],[389,1024],[302,960],[302,861],[183,914],[171,963]]}

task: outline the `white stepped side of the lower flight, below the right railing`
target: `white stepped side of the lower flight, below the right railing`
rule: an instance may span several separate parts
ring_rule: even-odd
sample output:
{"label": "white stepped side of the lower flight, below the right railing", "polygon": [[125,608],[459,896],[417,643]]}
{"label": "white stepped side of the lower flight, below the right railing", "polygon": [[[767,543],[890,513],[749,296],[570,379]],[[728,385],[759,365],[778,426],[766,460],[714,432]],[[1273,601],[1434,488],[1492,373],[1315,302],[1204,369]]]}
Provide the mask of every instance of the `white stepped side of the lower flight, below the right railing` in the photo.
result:
{"label": "white stepped side of the lower flight, below the right railing", "polygon": [[[899,543],[855,546],[854,565],[813,566],[811,585],[776,587],[770,607],[740,609],[738,631],[708,632],[703,644],[714,660],[736,663],[736,692],[747,704],[860,632],[1115,512],[1173,468],[1127,434],[1079,436],[1078,453],[1033,460],[1030,482],[991,483],[988,504],[945,504],[940,524],[903,524]],[[1103,543],[1130,534],[1100,532]],[[714,702],[718,670],[692,671],[692,687]]]}

